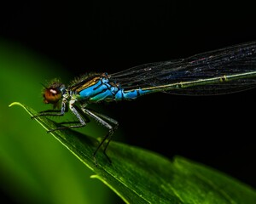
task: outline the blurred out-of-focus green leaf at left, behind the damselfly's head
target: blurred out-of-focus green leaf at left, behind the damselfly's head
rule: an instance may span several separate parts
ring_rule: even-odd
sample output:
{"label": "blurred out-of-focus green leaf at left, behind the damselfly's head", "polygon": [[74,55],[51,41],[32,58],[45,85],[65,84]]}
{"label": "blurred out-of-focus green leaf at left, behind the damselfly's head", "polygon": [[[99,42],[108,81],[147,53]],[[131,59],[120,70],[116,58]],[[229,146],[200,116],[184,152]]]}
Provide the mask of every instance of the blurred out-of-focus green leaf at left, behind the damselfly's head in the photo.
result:
{"label": "blurred out-of-focus green leaf at left, behind the damselfly's head", "polygon": [[[45,133],[44,128],[33,125],[34,121],[23,109],[8,107],[19,99],[36,110],[44,110],[42,83],[53,77],[67,82],[71,73],[63,71],[63,66],[47,54],[2,38],[0,68],[0,203],[6,200],[26,204],[119,201],[102,182],[89,179],[90,169]],[[66,119],[70,120],[69,116]],[[94,126],[89,124],[80,131],[102,135],[103,128]]]}

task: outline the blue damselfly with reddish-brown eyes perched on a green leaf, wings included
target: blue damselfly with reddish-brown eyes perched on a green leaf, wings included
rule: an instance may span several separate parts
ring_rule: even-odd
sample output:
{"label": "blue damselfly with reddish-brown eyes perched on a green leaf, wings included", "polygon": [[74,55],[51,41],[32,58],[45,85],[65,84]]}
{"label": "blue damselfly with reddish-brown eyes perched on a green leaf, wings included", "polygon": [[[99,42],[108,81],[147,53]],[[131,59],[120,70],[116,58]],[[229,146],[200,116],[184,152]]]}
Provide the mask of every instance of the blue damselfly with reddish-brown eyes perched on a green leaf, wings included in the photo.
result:
{"label": "blue damselfly with reddish-brown eyes perched on a green leaf, wings included", "polygon": [[[245,42],[219,48],[184,59],[166,60],[137,65],[125,71],[108,74],[88,73],[78,77],[70,86],[59,80],[44,86],[44,103],[53,109],[41,111],[37,116],[64,116],[70,110],[79,122],[49,129],[48,132],[66,128],[84,127],[86,117],[108,128],[93,157],[102,145],[103,153],[112,139],[119,122],[91,110],[88,106],[100,101],[113,102],[137,99],[157,92],[183,95],[230,94],[256,87],[256,42]],[[56,108],[60,107],[60,111]],[[107,156],[108,158],[108,156]],[[108,158],[108,161],[111,160]]]}

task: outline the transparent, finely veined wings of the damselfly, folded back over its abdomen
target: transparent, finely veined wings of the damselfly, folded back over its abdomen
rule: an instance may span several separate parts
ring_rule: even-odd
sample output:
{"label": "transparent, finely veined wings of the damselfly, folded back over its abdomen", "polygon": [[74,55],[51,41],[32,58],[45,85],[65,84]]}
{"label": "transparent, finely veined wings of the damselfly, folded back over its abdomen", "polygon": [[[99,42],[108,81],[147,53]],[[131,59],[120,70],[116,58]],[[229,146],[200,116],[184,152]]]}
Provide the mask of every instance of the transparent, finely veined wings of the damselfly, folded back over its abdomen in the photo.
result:
{"label": "transparent, finely veined wings of the damselfly, folded back over its abdomen", "polygon": [[[211,79],[219,78],[218,81]],[[138,65],[110,75],[121,88],[152,88],[185,82],[171,94],[226,94],[256,86],[256,42],[176,59]],[[212,83],[211,83],[212,82]]]}

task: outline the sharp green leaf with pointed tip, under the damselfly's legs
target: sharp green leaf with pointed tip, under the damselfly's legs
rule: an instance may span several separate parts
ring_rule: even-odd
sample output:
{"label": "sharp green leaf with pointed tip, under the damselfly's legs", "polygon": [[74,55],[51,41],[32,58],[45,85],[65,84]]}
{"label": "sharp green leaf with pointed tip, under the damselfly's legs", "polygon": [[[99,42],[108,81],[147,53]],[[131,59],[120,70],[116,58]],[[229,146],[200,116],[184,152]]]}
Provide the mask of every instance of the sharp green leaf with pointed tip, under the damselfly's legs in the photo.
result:
{"label": "sharp green leaf with pointed tip, under the damselfly's legs", "polygon": [[[11,105],[37,115],[26,105]],[[47,130],[57,125],[46,117],[35,120]],[[148,150],[112,142],[108,147],[112,163],[99,151],[96,167],[92,153],[99,141],[70,129],[51,134],[96,173],[92,178],[107,184],[126,203],[256,203],[251,187],[180,156],[169,161]]]}

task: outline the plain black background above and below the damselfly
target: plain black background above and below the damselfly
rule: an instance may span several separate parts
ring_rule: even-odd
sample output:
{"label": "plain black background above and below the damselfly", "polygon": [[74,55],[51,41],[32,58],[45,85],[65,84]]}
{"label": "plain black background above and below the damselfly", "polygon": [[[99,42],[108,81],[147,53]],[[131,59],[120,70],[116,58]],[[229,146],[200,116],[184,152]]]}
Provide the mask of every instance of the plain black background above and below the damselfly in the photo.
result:
{"label": "plain black background above and below the damselfly", "polygon": [[[54,59],[72,80],[253,41],[254,8],[250,1],[12,1],[0,7],[0,37]],[[255,94],[152,94],[101,109],[119,121],[114,140],[122,133],[127,144],[185,156],[256,188]]]}

